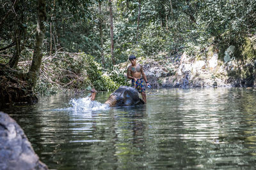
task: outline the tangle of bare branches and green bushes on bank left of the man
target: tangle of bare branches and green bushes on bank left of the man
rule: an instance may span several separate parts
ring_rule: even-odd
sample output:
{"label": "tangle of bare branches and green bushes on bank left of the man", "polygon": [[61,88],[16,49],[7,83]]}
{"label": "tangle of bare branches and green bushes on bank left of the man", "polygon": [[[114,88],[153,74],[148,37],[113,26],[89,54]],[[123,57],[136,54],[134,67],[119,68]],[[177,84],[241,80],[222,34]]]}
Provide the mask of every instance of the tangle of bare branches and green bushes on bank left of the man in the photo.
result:
{"label": "tangle of bare branches and green bushes on bank left of the man", "polygon": [[53,94],[64,89],[95,88],[99,91],[113,91],[127,85],[126,78],[116,67],[102,71],[102,67],[92,55],[86,53],[60,53],[51,60],[52,64],[44,69],[35,91]]}

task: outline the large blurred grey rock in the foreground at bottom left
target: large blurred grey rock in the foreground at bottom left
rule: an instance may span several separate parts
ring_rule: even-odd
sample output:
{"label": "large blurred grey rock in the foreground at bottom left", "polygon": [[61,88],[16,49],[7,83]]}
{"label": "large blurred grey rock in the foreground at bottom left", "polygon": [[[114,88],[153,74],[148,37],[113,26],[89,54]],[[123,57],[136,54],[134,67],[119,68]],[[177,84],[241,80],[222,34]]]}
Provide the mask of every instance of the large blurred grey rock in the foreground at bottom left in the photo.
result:
{"label": "large blurred grey rock in the foreground at bottom left", "polygon": [[0,169],[48,169],[40,162],[20,126],[0,112]]}

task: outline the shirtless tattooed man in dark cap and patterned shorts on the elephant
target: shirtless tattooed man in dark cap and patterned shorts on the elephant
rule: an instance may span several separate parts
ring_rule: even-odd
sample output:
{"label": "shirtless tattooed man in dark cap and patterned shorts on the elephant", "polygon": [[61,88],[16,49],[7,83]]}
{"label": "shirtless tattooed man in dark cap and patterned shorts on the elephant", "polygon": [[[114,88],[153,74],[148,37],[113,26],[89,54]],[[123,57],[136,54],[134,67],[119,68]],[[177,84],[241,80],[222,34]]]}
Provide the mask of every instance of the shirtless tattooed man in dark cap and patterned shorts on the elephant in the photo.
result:
{"label": "shirtless tattooed man in dark cap and patterned shorts on the elephant", "polygon": [[136,57],[131,55],[129,57],[131,65],[127,69],[127,78],[132,80],[132,87],[140,92],[141,97],[145,103],[147,103],[146,93],[145,93],[145,86],[143,83],[143,79],[146,81],[147,86],[150,86],[148,83],[147,77],[143,71],[143,67],[141,64],[137,64]]}

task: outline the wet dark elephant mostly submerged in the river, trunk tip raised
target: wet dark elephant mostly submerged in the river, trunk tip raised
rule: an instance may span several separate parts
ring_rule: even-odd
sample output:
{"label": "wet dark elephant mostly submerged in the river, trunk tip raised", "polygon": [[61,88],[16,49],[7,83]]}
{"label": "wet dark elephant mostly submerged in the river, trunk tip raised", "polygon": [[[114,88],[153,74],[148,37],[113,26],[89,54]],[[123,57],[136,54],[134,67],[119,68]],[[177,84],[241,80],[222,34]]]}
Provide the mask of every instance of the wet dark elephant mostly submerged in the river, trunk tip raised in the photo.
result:
{"label": "wet dark elephant mostly submerged in the river, trunk tip raised", "polygon": [[[91,100],[95,100],[96,91],[95,89],[91,90]],[[105,102],[110,107],[115,106],[132,106],[138,104],[145,104],[142,99],[140,99],[138,90],[134,87],[121,86],[115,92],[113,92],[108,100]]]}

